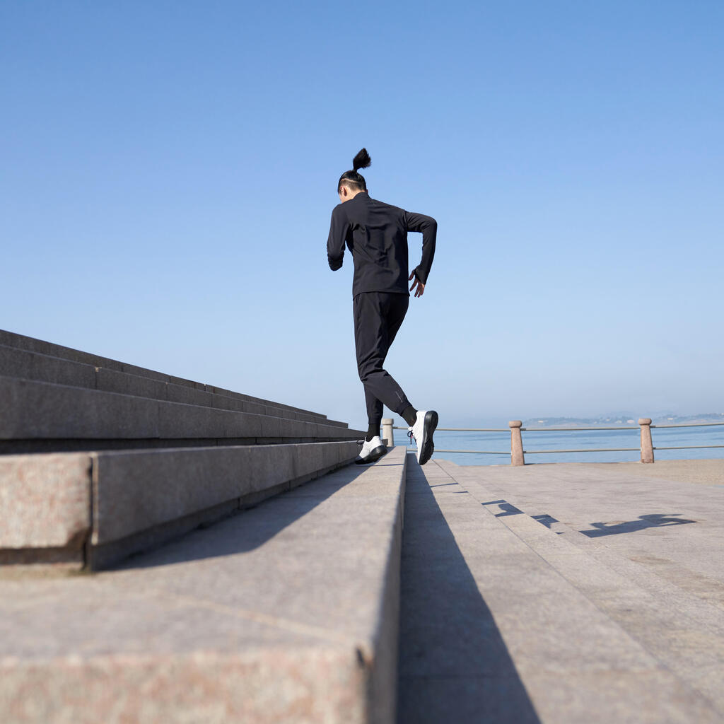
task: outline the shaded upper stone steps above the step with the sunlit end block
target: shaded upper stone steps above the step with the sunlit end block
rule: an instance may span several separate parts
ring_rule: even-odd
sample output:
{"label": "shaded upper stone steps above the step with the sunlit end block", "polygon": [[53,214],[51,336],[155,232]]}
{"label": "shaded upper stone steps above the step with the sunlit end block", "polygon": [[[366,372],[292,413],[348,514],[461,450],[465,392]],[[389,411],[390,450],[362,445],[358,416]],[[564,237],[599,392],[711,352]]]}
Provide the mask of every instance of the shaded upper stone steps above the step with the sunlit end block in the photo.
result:
{"label": "shaded upper stone steps above the step with the sunlit end block", "polygon": [[0,331],[0,454],[332,442],[326,416]]}

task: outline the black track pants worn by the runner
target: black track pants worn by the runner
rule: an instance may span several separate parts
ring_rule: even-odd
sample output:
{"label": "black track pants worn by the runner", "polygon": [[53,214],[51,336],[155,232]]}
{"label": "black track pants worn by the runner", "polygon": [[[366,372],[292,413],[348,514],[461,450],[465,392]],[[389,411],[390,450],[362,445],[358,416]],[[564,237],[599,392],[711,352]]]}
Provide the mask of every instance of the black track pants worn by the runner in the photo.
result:
{"label": "black track pants worn by the runner", "polygon": [[391,292],[361,292],[353,303],[357,369],[364,384],[367,417],[369,424],[379,425],[383,404],[398,415],[410,405],[400,385],[383,367],[410,298]]}

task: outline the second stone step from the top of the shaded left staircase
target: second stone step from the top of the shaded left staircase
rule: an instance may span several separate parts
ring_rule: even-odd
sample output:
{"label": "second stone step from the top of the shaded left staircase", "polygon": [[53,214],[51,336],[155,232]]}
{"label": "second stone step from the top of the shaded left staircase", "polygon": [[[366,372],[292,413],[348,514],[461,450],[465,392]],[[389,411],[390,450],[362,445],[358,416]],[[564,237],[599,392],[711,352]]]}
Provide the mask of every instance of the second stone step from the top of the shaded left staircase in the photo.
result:
{"label": "second stone step from the top of the shaded left staircase", "polygon": [[296,410],[287,405],[267,403],[248,395],[221,392],[220,388],[211,385],[177,384],[172,382],[168,375],[140,375],[7,345],[0,345],[0,376],[347,427],[346,423],[328,420],[324,415]]}

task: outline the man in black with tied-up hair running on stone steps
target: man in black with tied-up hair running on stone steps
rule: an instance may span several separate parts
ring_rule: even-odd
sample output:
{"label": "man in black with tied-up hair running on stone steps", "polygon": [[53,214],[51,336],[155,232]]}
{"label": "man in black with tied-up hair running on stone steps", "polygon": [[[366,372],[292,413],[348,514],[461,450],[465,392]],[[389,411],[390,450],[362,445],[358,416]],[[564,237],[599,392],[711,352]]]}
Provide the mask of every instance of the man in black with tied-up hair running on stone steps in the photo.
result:
{"label": "man in black with tied-up hair running on stone steps", "polygon": [[[340,269],[345,244],[354,260],[352,296],[357,367],[364,385],[369,428],[355,463],[374,463],[387,453],[379,437],[382,405],[400,415],[410,426],[417,445],[417,460],[424,465],[434,451],[432,434],[437,412],[418,411],[395,379],[384,369],[384,359],[405,319],[410,292],[421,297],[435,253],[437,222],[432,216],[412,214],[369,197],[364,177],[357,169],[371,163],[363,148],[354,158],[353,170],[337,182],[341,203],[332,211],[327,257],[332,271]],[[409,231],[422,232],[422,261],[408,275]],[[407,282],[412,281],[408,292]]]}

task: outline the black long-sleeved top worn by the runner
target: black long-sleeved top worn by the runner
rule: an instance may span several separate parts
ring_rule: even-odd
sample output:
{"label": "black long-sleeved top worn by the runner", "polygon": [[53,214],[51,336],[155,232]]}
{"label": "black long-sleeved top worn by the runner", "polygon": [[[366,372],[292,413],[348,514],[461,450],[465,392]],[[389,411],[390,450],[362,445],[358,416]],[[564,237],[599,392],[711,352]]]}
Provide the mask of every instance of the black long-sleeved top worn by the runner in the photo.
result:
{"label": "black long-sleeved top worn by the runner", "polygon": [[346,243],[355,263],[353,297],[360,292],[409,295],[408,231],[422,232],[422,261],[415,267],[415,275],[426,284],[435,253],[437,222],[432,216],[376,201],[366,192],[332,210],[327,240],[329,268],[340,269]]}

